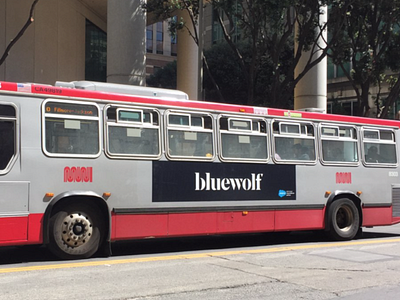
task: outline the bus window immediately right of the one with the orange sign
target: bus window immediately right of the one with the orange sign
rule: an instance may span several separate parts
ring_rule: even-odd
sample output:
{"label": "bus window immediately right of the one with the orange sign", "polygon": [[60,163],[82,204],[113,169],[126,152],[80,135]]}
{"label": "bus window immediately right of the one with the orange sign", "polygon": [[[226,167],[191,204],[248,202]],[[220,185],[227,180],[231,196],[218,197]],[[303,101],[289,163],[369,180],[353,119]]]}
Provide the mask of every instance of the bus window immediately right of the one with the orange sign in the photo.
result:
{"label": "bus window immediately right of the one with the orange sign", "polygon": [[106,108],[107,143],[110,157],[158,158],[160,150],[159,113],[149,108]]}

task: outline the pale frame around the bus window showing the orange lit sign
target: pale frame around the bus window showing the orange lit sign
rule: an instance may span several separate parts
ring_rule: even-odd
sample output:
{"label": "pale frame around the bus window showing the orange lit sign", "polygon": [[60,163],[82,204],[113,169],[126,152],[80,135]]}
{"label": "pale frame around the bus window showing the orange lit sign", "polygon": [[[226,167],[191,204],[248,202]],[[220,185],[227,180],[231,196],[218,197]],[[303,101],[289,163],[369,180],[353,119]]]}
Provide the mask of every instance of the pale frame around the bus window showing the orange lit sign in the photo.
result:
{"label": "pale frame around the bus window showing the orange lit sign", "polygon": [[[85,106],[93,106],[97,110],[97,116],[80,116],[80,115],[72,115],[72,114],[54,114],[51,112],[46,112],[46,104],[49,102],[54,103],[64,103],[64,104],[74,104],[74,105],[85,105]],[[46,117],[55,118],[55,119],[68,119],[68,120],[92,120],[97,121],[98,123],[98,131],[97,131],[97,142],[98,142],[98,152],[94,154],[75,154],[75,153],[53,153],[47,151],[46,148]],[[42,103],[42,151],[46,156],[49,157],[73,157],[73,158],[97,158],[100,156],[102,152],[102,135],[101,135],[101,110],[97,103],[94,102],[84,102],[84,101],[71,101],[71,100],[60,100],[60,99],[46,99]]]}

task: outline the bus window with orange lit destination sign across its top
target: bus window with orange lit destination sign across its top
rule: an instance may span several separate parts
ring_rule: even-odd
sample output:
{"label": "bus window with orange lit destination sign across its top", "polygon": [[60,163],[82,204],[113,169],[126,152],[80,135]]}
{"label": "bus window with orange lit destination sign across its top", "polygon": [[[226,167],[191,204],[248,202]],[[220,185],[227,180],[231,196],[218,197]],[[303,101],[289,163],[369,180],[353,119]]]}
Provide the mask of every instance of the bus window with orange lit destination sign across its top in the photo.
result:
{"label": "bus window with orange lit destination sign across its top", "polygon": [[44,151],[49,156],[95,157],[100,153],[99,113],[92,104],[46,101]]}

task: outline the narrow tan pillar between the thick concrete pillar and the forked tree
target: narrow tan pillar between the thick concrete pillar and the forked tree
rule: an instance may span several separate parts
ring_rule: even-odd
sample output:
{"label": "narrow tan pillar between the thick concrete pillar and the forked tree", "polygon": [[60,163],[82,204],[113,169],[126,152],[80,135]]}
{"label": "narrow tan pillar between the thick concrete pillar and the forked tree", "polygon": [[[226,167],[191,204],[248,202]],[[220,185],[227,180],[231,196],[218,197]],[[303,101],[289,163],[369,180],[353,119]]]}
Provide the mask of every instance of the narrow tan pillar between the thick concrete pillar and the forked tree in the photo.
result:
{"label": "narrow tan pillar between the thick concrete pillar and the forked tree", "polygon": [[[193,28],[189,14],[180,10],[178,18],[183,18],[191,32]],[[177,89],[189,95],[189,99],[199,99],[199,47],[186,29],[178,31]]]}

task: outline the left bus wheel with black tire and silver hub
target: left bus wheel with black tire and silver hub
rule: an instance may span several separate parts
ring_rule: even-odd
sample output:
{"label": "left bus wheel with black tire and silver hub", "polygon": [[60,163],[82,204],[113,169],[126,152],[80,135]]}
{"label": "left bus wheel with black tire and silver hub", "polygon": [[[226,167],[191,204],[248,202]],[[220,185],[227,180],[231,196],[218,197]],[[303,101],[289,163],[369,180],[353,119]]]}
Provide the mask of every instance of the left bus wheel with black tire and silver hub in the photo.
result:
{"label": "left bus wheel with black tire and silver hub", "polygon": [[57,210],[49,222],[49,249],[61,259],[91,257],[98,250],[103,225],[95,206],[75,203]]}

